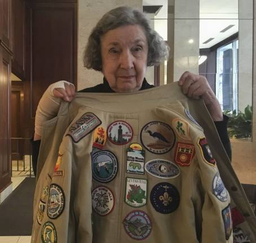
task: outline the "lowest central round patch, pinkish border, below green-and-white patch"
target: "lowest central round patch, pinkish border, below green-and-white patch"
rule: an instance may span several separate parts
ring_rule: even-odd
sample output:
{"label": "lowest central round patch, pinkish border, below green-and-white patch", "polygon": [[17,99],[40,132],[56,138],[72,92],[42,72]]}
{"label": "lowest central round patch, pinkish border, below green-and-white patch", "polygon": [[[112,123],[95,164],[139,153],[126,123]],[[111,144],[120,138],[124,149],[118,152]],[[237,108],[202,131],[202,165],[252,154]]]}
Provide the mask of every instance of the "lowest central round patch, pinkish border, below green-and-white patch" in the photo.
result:
{"label": "lowest central round patch, pinkish border, below green-and-white patch", "polygon": [[131,239],[145,240],[152,231],[151,220],[148,215],[140,210],[130,212],[123,219],[123,227]]}

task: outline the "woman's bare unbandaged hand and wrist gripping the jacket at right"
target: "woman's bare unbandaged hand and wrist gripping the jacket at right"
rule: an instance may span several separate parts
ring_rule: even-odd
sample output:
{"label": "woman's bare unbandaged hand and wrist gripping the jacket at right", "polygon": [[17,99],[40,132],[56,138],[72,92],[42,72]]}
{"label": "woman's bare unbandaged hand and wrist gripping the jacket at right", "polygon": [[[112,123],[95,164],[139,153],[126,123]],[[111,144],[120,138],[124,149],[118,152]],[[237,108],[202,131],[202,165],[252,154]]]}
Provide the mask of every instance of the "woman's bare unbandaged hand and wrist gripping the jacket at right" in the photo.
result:
{"label": "woman's bare unbandaged hand and wrist gripping the jacket at right", "polygon": [[208,80],[202,76],[186,71],[179,79],[179,86],[182,87],[182,92],[189,98],[202,98],[215,122],[223,120],[222,109],[219,101],[209,86]]}

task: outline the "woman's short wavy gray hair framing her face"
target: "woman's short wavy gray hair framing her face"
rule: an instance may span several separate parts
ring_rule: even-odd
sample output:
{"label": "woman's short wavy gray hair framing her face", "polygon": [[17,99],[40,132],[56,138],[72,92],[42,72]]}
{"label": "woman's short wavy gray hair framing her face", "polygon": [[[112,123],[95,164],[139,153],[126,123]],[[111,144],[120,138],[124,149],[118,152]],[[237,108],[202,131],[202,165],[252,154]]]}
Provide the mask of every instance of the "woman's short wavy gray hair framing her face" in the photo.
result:
{"label": "woman's short wavy gray hair framing her face", "polygon": [[130,7],[117,7],[105,13],[92,29],[85,48],[83,62],[88,69],[102,71],[100,38],[109,30],[125,25],[140,25],[148,40],[147,66],[158,65],[167,60],[169,46],[149,25],[149,19],[139,10]]}

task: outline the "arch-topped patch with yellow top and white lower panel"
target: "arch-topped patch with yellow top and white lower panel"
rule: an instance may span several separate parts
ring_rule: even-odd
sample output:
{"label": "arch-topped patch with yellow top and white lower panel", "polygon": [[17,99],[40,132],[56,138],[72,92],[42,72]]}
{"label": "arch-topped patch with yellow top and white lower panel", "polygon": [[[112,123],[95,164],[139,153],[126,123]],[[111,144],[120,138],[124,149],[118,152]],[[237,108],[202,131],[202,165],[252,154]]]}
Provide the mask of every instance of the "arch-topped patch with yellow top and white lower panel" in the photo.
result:
{"label": "arch-topped patch with yellow top and white lower panel", "polygon": [[131,143],[127,149],[126,172],[144,174],[145,150],[139,143]]}

